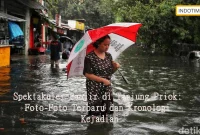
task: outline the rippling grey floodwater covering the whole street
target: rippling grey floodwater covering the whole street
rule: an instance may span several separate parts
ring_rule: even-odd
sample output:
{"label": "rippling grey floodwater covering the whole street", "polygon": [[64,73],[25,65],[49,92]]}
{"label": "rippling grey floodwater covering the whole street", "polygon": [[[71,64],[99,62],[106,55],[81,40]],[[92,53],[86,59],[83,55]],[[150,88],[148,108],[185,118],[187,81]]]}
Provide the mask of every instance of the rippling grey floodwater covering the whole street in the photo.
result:
{"label": "rippling grey floodwater covering the whole street", "polygon": [[12,56],[11,67],[0,68],[0,135],[178,135],[189,128],[198,133],[199,61],[136,48],[117,61],[129,84],[119,72],[112,77],[116,121],[89,124],[81,121],[87,114],[81,108],[87,105],[85,78],[67,79],[66,61],[52,69],[48,55]]}

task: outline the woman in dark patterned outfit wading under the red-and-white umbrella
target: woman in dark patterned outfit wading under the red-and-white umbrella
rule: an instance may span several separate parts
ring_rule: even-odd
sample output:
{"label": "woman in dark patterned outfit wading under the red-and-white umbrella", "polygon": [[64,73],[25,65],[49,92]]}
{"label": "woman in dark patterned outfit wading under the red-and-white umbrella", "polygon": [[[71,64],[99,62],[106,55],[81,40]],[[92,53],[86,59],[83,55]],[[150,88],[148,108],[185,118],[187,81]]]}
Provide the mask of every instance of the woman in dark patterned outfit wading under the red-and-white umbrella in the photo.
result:
{"label": "woman in dark patterned outfit wading under the red-and-white umbrella", "polygon": [[[107,52],[110,45],[108,35],[93,43],[94,50],[86,55],[83,74],[86,77],[88,106],[95,110],[88,111],[88,116],[112,114],[109,108],[113,104],[111,75],[120,67]],[[103,108],[105,109],[99,109]]]}

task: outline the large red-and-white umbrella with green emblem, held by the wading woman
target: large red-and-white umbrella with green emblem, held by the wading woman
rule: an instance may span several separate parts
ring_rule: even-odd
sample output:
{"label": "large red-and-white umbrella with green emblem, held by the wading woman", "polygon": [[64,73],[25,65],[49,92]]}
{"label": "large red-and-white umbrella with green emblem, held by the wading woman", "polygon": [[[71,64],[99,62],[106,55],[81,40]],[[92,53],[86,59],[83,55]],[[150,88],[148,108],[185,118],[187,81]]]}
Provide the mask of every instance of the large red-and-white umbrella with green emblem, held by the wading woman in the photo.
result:
{"label": "large red-and-white umbrella with green emblem, held by the wading woman", "polygon": [[93,42],[109,35],[111,43],[108,52],[115,60],[126,48],[136,42],[137,32],[141,26],[140,23],[114,23],[87,31],[70,53],[67,62],[68,78],[83,75],[85,55],[94,49]]}

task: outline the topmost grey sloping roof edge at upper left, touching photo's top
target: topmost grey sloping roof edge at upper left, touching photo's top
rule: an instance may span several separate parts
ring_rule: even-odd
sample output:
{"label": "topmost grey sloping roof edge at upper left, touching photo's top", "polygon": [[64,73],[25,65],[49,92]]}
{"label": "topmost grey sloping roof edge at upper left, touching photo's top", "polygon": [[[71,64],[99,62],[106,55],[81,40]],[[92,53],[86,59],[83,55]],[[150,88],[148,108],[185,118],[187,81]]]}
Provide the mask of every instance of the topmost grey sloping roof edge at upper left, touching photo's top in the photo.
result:
{"label": "topmost grey sloping roof edge at upper left, touching photo's top", "polygon": [[32,0],[17,0],[17,1],[32,9],[47,9],[42,4],[36,1],[32,1]]}

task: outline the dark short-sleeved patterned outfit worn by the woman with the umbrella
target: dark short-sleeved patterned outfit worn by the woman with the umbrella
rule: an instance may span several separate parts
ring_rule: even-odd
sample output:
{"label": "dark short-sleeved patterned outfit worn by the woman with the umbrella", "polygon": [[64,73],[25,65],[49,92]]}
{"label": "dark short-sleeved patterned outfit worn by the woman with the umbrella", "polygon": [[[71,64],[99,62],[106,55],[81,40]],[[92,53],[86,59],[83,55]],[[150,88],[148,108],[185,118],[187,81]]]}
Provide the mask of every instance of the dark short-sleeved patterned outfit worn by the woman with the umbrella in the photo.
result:
{"label": "dark short-sleeved patterned outfit worn by the woman with the umbrella", "polygon": [[[110,53],[105,54],[105,58],[99,58],[94,51],[85,57],[83,74],[94,74],[111,80],[113,73],[112,56]],[[88,115],[105,115],[112,113],[109,110],[113,104],[113,95],[111,86],[105,86],[103,83],[86,79],[87,101],[88,106],[95,107],[95,111],[89,111]],[[103,96],[104,95],[104,96]],[[106,95],[106,96],[105,96]],[[104,106],[105,110],[99,110],[98,106]]]}

